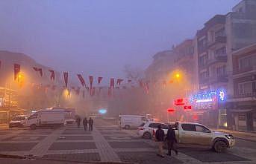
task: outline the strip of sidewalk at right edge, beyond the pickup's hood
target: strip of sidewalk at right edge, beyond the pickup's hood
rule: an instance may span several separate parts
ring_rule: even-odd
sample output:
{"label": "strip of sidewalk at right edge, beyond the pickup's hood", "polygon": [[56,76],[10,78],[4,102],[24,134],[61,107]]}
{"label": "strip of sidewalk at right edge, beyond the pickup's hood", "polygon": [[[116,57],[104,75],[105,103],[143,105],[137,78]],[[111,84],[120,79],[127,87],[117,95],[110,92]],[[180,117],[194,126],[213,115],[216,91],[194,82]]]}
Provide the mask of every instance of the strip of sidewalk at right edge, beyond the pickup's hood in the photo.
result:
{"label": "strip of sidewalk at right edge, beyond the pickup's hood", "polygon": [[252,142],[256,142],[256,133],[249,133],[243,131],[231,131],[227,129],[216,129],[215,131],[222,131],[227,134],[232,134],[235,138],[240,140],[248,140]]}

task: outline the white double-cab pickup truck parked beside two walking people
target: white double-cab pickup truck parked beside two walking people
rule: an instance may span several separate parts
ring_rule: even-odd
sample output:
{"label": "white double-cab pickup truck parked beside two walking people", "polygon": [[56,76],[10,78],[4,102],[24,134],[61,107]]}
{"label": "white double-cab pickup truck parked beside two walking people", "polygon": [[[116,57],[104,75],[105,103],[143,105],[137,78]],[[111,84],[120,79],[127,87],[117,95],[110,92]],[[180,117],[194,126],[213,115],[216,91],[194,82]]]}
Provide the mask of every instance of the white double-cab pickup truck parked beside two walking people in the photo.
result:
{"label": "white double-cab pickup truck parked beside two walking people", "polygon": [[[205,125],[195,122],[176,122],[173,128],[178,144],[182,145],[202,145],[212,148],[216,152],[222,152],[234,146],[235,143],[231,134],[211,131]],[[153,136],[156,130],[157,128],[153,129]],[[163,130],[166,134],[166,127],[163,127]],[[147,131],[144,130],[144,133]]]}

